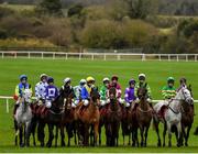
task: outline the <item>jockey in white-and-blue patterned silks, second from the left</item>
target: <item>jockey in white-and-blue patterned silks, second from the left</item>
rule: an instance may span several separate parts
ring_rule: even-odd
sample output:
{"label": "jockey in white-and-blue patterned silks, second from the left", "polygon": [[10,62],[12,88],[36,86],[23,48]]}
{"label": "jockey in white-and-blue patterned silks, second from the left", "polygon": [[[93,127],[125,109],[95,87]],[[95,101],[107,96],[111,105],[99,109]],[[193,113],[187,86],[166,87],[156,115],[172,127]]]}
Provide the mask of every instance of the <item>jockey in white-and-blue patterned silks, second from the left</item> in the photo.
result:
{"label": "jockey in white-and-blue patterned silks, second from the left", "polygon": [[47,75],[42,74],[40,76],[41,81],[38,81],[35,86],[35,98],[40,105],[42,105],[45,100],[45,89],[48,86],[47,84]]}

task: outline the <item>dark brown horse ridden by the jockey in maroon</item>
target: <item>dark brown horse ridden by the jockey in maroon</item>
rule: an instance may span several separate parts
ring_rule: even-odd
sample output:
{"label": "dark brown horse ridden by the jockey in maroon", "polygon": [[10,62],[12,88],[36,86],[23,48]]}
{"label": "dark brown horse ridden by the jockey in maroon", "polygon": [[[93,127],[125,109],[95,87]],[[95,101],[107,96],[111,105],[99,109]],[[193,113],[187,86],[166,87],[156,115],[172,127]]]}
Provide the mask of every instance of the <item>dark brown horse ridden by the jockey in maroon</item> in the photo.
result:
{"label": "dark brown horse ridden by the jockey in maroon", "polygon": [[109,89],[110,105],[107,110],[106,119],[106,144],[107,146],[119,145],[119,130],[122,118],[121,107],[117,100],[117,89],[111,87]]}

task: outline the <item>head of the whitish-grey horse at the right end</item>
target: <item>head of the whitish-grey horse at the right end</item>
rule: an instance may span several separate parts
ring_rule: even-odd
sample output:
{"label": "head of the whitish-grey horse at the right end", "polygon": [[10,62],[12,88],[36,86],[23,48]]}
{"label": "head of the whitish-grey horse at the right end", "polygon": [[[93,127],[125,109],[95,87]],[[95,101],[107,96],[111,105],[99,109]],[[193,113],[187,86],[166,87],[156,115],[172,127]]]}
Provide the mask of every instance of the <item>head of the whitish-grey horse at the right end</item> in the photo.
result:
{"label": "head of the whitish-grey horse at the right end", "polygon": [[177,97],[177,99],[186,101],[189,105],[191,105],[194,102],[194,98],[191,97],[190,91],[185,87],[182,87],[178,89],[176,97]]}

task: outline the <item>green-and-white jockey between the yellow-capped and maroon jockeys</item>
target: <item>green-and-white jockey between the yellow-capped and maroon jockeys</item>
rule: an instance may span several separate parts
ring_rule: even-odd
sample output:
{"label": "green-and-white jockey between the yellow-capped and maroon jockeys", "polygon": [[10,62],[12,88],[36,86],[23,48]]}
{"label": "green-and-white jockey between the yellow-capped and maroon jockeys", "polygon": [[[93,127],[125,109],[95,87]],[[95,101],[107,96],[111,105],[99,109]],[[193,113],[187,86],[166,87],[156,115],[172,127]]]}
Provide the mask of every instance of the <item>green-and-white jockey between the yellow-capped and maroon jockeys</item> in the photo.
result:
{"label": "green-and-white jockey between the yellow-capped and maroon jockeys", "polygon": [[107,103],[107,92],[108,92],[108,88],[109,88],[109,84],[110,84],[110,79],[109,78],[103,78],[103,86],[100,88],[100,105],[105,106]]}

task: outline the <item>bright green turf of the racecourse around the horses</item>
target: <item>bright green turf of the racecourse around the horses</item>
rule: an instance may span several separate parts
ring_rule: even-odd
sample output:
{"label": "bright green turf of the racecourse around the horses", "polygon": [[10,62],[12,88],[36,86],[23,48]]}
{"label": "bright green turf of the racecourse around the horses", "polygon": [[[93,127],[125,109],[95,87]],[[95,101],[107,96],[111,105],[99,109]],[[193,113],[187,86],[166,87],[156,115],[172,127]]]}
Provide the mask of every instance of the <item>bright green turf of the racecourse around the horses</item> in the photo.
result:
{"label": "bright green turf of the racecourse around the horses", "polygon": [[[117,74],[120,77],[122,89],[128,86],[130,78],[138,78],[139,73],[145,73],[147,81],[152,88],[154,99],[161,99],[161,88],[166,84],[168,76],[176,78],[176,87],[182,76],[187,77],[193,85],[194,97],[198,99],[198,63],[177,62],[103,62],[103,61],[51,61],[51,59],[0,59],[0,96],[12,96],[15,85],[19,82],[19,75],[26,74],[29,81],[34,86],[38,81],[38,76],[46,73],[55,78],[55,84],[61,87],[63,79],[67,76],[73,78],[73,85],[77,85],[80,78],[91,75],[96,78],[97,85],[101,86],[103,77]],[[6,103],[0,100],[0,152],[198,152],[198,138],[193,135],[193,131],[198,125],[197,117],[190,132],[189,147],[156,147],[156,134],[151,128],[148,133],[148,147],[133,148],[130,146],[120,147],[58,147],[58,148],[19,148],[13,146],[14,130],[11,112],[6,113]],[[10,103],[10,109],[13,103]],[[198,105],[196,105],[196,111]],[[122,138],[120,136],[120,145]],[[102,135],[105,145],[105,135]],[[175,145],[175,138],[173,138]]]}

